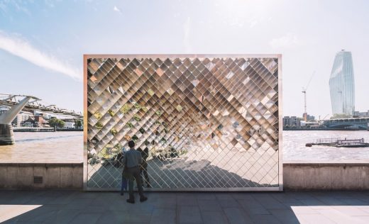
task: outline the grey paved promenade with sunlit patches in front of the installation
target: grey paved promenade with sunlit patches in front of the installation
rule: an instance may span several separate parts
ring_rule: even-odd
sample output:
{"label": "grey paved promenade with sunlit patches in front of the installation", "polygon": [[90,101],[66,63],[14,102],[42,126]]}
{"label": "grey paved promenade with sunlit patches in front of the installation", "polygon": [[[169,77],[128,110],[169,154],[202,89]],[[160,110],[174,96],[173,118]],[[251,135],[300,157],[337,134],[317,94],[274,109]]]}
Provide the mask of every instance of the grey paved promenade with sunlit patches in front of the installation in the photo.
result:
{"label": "grey paved promenade with sunlit patches in front of the installation", "polygon": [[0,191],[0,223],[369,223],[369,192]]}

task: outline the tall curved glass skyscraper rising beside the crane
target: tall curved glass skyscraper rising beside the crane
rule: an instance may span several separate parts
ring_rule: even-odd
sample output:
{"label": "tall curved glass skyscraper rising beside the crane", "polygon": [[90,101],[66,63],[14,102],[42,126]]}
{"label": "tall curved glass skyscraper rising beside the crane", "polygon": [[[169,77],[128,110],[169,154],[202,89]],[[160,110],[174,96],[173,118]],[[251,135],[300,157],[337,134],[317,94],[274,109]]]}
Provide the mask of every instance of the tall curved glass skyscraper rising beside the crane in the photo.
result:
{"label": "tall curved glass skyscraper rising beside the crane", "polygon": [[333,114],[353,115],[353,111],[355,111],[355,84],[353,80],[351,52],[341,50],[334,58],[329,79]]}

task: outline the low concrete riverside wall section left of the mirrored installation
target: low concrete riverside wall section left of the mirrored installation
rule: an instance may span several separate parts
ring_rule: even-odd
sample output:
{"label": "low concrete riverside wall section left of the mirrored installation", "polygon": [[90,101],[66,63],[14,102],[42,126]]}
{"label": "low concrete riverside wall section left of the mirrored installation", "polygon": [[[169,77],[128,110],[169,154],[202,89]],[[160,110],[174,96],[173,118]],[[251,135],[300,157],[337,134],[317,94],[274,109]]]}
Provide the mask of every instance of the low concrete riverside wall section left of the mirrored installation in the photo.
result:
{"label": "low concrete riverside wall section left of the mirrored installation", "polygon": [[[33,177],[43,177],[35,184]],[[82,189],[83,163],[2,163],[0,189]]]}

